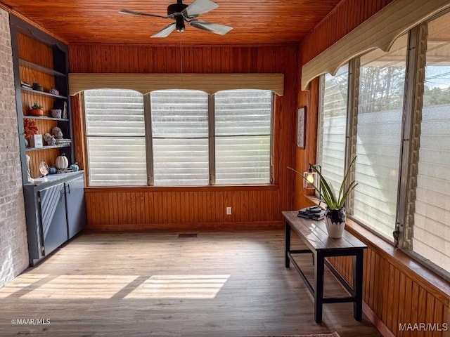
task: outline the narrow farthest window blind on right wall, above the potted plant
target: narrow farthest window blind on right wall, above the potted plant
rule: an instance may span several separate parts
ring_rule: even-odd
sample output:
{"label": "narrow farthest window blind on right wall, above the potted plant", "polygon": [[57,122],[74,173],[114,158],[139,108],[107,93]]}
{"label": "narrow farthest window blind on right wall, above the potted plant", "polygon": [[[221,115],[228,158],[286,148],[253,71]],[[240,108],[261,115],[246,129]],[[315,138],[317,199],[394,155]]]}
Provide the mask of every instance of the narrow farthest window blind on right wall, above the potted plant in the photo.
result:
{"label": "narrow farthest window blind on right wall, above the potted plant", "polygon": [[347,131],[348,65],[335,76],[326,74],[322,88],[323,107],[319,129],[319,164],[322,175],[336,193],[344,178]]}

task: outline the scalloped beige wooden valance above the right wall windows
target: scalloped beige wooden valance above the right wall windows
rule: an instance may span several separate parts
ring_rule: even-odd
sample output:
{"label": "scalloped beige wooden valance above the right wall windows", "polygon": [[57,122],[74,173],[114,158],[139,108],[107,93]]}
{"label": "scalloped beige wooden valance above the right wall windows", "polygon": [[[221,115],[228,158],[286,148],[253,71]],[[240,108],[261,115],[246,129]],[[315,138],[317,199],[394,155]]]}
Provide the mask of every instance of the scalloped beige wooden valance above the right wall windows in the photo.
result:
{"label": "scalloped beige wooden valance above the right wall windows", "polygon": [[[335,74],[351,58],[380,48],[389,51],[397,37],[448,8],[448,0],[394,0],[302,66],[302,89],[321,74]],[[339,56],[338,56],[339,55]]]}

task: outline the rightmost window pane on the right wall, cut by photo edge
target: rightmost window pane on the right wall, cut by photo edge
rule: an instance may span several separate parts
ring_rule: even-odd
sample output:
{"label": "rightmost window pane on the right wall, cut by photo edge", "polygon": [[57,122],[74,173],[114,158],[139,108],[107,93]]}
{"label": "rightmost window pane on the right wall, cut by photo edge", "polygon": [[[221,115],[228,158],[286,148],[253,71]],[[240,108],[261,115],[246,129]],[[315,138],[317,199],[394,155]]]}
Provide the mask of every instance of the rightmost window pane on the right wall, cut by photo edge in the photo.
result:
{"label": "rightmost window pane on the right wall, cut by photo edge", "polygon": [[[413,251],[450,272],[450,14],[428,25]],[[444,37],[444,38],[442,38]]]}

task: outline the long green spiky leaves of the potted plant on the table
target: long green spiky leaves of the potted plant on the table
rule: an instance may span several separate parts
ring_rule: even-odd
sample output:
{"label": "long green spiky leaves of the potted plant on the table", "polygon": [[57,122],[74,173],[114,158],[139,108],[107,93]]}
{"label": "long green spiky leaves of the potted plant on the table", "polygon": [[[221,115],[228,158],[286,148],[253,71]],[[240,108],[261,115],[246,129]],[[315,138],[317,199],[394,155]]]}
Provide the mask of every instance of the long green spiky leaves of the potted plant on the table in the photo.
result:
{"label": "long green spiky leaves of the potted plant on the table", "polygon": [[311,183],[309,180],[307,180],[307,178],[305,178],[303,176],[303,174],[300,173],[299,171],[293,169],[292,167],[288,167],[288,169],[297,173],[304,180],[306,180],[309,183],[309,185],[314,187],[314,190],[316,190],[319,193],[320,198],[323,200],[323,202],[325,202],[328,209],[342,209],[344,207],[345,199],[347,199],[347,196],[349,195],[349,193],[352,192],[352,190],[354,190],[354,187],[356,187],[356,185],[358,185],[358,183],[356,183],[355,180],[352,180],[349,183],[347,189],[345,189],[345,184],[347,182],[347,178],[352,169],[352,165],[354,164],[355,159],[356,159],[356,157],[354,157],[352,159],[352,162],[350,163],[349,168],[347,169],[347,172],[345,172],[345,176],[342,179],[342,183],[340,184],[338,195],[335,194],[335,191],[333,190],[333,187],[331,186],[331,184],[328,183],[325,178],[323,178],[322,173],[318,169],[316,169],[316,167],[314,165],[309,164],[311,169],[313,169],[320,177],[320,179],[319,179],[320,185],[321,185],[320,189],[318,187],[316,187],[316,185]]}

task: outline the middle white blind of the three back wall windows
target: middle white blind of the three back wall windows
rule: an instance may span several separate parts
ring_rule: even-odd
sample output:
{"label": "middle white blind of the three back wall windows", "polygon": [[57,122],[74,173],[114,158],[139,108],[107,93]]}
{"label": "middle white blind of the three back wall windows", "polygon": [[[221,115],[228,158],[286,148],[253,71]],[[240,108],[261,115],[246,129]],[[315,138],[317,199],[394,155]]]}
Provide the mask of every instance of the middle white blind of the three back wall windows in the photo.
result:
{"label": "middle white blind of the three back wall windows", "polygon": [[154,185],[208,185],[208,95],[164,90],[150,94]]}

